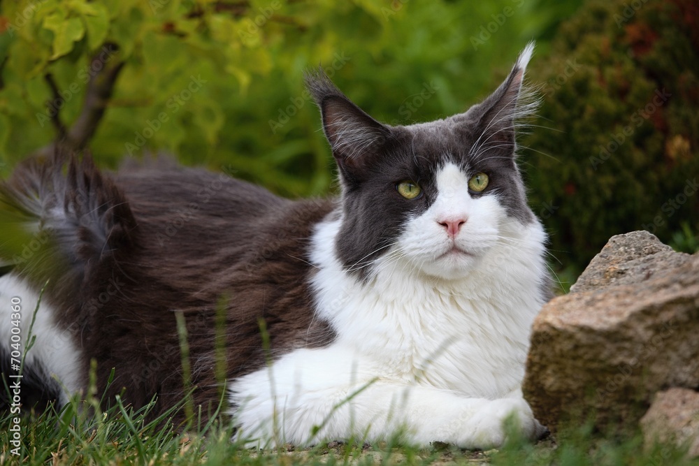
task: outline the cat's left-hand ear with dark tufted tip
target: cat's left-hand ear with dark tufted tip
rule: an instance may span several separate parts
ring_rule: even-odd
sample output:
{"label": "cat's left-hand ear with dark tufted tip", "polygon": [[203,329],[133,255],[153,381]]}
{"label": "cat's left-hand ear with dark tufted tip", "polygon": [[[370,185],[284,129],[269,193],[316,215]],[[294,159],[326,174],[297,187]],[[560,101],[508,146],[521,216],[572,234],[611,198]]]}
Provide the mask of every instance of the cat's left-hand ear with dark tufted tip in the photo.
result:
{"label": "cat's left-hand ear with dark tufted tip", "polygon": [[320,108],[325,136],[343,174],[359,177],[380,150],[391,130],[347,99],[319,69],[305,82]]}

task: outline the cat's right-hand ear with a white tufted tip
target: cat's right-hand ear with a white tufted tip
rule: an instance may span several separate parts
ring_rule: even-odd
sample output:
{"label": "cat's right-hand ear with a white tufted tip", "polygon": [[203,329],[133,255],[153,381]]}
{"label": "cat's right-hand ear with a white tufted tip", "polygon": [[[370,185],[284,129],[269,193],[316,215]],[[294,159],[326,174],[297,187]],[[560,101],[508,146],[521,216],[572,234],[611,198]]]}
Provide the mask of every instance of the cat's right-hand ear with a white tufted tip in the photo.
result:
{"label": "cat's right-hand ear with a white tufted tip", "polygon": [[[530,42],[519,54],[505,82],[482,103],[468,112],[454,116],[457,123],[473,125],[479,136],[480,147],[500,147],[514,152],[514,134],[518,119],[528,117],[536,111],[538,100],[523,91],[524,71],[534,51]],[[473,128],[473,126],[472,126]]]}

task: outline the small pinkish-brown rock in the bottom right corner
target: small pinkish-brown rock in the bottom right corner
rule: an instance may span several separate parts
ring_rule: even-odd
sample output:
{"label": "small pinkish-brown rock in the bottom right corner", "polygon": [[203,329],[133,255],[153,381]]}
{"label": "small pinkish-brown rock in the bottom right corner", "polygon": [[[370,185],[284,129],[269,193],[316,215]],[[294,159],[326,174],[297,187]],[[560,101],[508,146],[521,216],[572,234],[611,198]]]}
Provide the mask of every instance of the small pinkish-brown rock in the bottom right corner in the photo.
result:
{"label": "small pinkish-brown rock in the bottom right corner", "polygon": [[699,393],[687,388],[658,392],[641,428],[646,446],[672,442],[689,446],[689,456],[699,456]]}

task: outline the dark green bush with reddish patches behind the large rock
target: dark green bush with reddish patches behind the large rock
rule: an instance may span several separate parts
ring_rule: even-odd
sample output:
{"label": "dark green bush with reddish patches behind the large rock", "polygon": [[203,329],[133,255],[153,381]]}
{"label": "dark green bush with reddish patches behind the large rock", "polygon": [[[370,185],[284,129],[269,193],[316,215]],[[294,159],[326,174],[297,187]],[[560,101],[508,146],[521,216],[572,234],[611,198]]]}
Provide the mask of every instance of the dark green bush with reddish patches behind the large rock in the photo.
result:
{"label": "dark green bush with reddish patches behind the large rock", "polygon": [[591,0],[533,64],[551,130],[525,138],[524,168],[563,264],[640,229],[696,245],[677,238],[699,231],[697,31],[696,0]]}

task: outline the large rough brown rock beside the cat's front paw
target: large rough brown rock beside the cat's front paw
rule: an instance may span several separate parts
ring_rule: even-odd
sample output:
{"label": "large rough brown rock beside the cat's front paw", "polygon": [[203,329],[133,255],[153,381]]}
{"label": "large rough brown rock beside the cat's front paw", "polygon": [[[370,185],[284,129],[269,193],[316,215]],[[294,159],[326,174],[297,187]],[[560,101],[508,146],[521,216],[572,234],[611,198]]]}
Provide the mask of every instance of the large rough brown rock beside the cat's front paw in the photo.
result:
{"label": "large rough brown rock beside the cat's front paw", "polygon": [[535,416],[635,428],[653,395],[699,387],[699,255],[645,231],[610,239],[533,324],[524,379]]}

